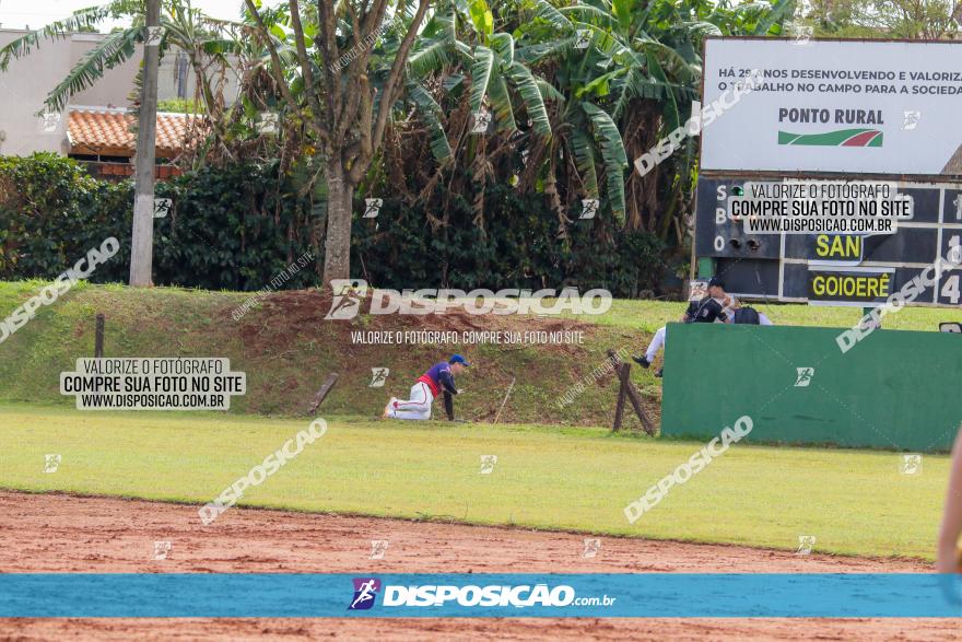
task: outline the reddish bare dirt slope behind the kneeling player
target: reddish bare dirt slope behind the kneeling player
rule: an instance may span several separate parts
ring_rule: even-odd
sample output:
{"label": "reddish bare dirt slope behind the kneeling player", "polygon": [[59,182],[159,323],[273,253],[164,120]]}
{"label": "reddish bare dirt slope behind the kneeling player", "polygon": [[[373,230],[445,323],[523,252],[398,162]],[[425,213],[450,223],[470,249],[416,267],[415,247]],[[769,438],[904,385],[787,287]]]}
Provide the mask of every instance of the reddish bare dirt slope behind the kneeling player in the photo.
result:
{"label": "reddish bare dirt slope behind the kneeling player", "polygon": [[[477,315],[455,308],[444,314],[361,314],[330,320],[326,318],[330,308],[330,296],[301,291],[268,297],[239,323],[230,318],[228,311],[222,312],[224,326],[239,332],[248,372],[277,373],[255,376],[248,386],[251,409],[284,412],[275,408],[275,399],[291,397],[296,399],[289,406],[309,407],[327,373],[338,372],[341,378],[326,411],[377,416],[389,396],[406,397],[430,365],[460,352],[474,366],[459,380],[459,387],[464,382],[471,392],[458,399],[459,417],[493,419],[514,380],[501,421],[605,425],[613,416],[617,382],[591,372],[605,365],[606,350],[647,340],[643,332],[553,316]],[[436,340],[413,340],[414,332],[431,334]],[[293,369],[298,372],[290,373]],[[388,369],[383,387],[371,386],[372,369]],[[652,374],[642,371],[635,377]],[[577,393],[577,402],[559,406],[578,383],[585,390]],[[649,412],[657,419],[659,390],[654,380],[648,384]]]}

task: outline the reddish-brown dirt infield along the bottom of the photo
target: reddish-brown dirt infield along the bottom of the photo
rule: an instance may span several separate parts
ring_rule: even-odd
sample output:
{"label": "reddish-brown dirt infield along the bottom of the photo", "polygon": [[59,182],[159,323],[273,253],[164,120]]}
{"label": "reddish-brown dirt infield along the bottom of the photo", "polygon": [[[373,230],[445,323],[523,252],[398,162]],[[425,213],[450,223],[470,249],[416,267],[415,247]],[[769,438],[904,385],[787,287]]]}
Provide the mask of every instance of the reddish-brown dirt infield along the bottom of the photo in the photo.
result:
{"label": "reddish-brown dirt infield along the bottom of the photo", "polygon": [[[0,572],[926,572],[875,560],[734,546],[313,515],[227,511],[203,527],[197,509],[155,502],[0,492]],[[372,560],[371,541],[388,540]],[[154,542],[169,541],[166,559]],[[7,619],[2,640],[953,640],[948,619]]]}

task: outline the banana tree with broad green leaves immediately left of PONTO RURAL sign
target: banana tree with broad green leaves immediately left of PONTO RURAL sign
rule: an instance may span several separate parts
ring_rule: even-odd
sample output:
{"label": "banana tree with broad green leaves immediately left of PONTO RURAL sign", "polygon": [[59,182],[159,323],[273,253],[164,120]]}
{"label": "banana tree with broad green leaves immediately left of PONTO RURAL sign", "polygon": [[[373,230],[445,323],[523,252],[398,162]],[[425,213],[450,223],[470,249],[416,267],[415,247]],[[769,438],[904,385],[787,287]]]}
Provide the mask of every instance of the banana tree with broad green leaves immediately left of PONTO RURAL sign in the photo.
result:
{"label": "banana tree with broad green leaves immediately left of PONTO RURAL sign", "polygon": [[[681,241],[680,214],[688,208],[695,176],[694,141],[688,140],[646,176],[625,176],[618,163],[622,155],[640,156],[690,116],[699,96],[706,35],[777,34],[791,5],[793,0],[737,8],[708,0],[527,0],[531,20],[524,31],[535,43],[520,55],[536,70],[544,70],[566,98],[567,108],[559,117],[570,125],[555,125],[555,130],[571,131],[565,147],[577,160],[583,190],[589,194],[596,183],[590,171],[598,156],[594,138],[601,143],[606,196],[615,215],[624,212],[629,227],[662,238],[673,225]],[[575,42],[584,48],[576,48]],[[582,114],[585,104],[594,107]],[[612,130],[618,139],[607,136]]]}

